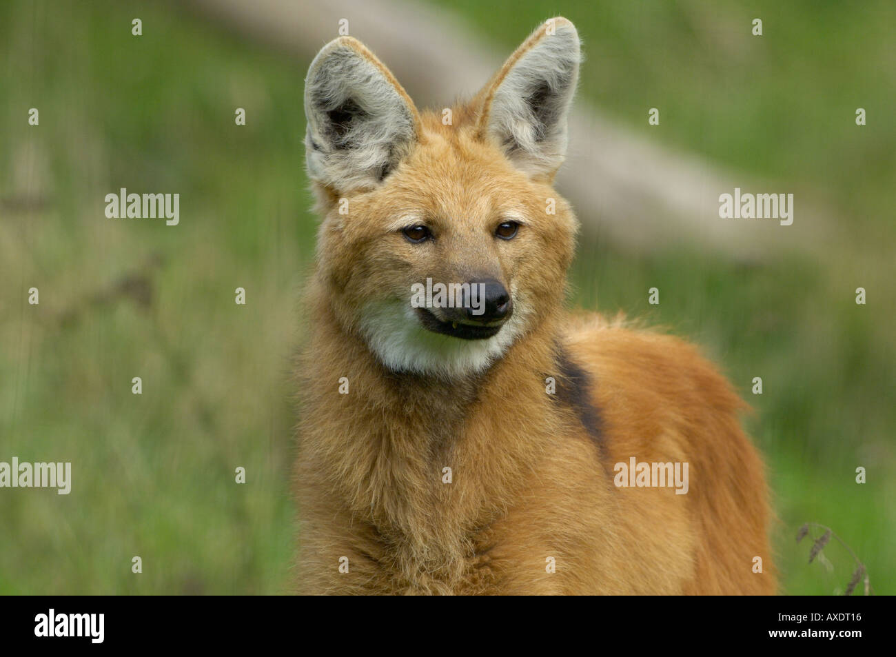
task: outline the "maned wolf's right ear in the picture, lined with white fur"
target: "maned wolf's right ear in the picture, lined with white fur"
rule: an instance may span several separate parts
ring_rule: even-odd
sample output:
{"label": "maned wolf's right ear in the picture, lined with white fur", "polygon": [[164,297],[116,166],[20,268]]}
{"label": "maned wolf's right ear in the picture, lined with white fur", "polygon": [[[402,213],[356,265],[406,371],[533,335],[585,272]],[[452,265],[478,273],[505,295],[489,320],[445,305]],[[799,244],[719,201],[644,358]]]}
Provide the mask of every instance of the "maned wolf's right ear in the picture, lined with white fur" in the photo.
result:
{"label": "maned wolf's right ear in the picture, lined with white fur", "polygon": [[581,58],[573,23],[552,18],[480,92],[478,134],[495,139],[517,168],[532,177],[553,177],[563,163],[566,117]]}

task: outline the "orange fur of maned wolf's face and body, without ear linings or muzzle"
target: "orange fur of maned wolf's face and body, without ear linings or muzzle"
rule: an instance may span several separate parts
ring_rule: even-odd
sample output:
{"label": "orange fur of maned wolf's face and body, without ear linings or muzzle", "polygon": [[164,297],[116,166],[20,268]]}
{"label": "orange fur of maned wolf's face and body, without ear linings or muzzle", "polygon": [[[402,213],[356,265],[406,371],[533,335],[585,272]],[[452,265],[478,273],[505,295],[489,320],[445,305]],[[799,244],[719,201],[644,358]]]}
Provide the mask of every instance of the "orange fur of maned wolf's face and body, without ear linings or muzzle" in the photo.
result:
{"label": "orange fur of maned wolf's face and body, without ear linings or muzzle", "polygon": [[[297,591],[774,592],[762,463],[739,426],[743,403],[685,342],[564,312],[573,211],[553,173],[522,173],[483,134],[495,85],[519,56],[452,108],[452,125],[414,109],[418,142],[381,185],[317,186],[324,218],[298,367]],[[384,229],[409,209],[438,231],[433,244]],[[507,212],[526,221],[513,241],[496,241],[490,230]],[[359,324],[367,301],[407,298],[426,276],[482,271],[529,313],[501,359],[461,377],[383,366]],[[547,393],[548,377],[566,394]],[[688,462],[688,493],[617,488],[614,464],[631,456]],[[754,557],[764,573],[753,572]]]}

